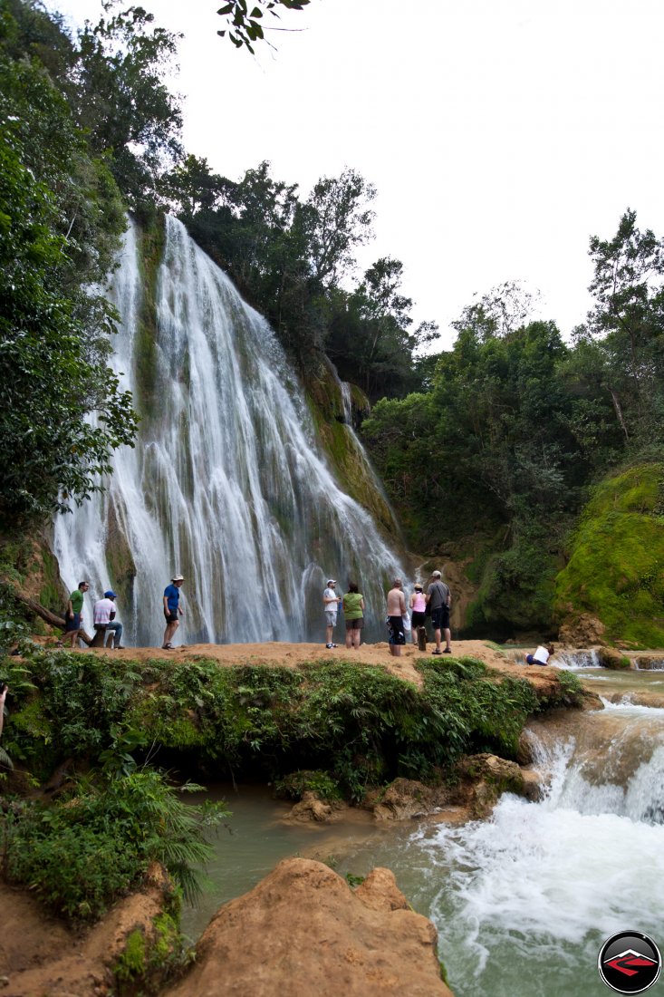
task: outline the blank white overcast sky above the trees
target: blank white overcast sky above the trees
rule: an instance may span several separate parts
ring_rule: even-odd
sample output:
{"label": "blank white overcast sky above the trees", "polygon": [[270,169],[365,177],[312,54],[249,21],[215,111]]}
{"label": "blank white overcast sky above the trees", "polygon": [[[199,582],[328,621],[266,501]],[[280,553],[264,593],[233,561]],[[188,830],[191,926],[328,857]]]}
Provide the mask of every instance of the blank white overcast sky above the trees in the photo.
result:
{"label": "blank white overcast sky above the trees", "polygon": [[[49,0],[78,23],[98,0]],[[344,166],[378,188],[362,269],[401,259],[417,321],[504,280],[562,333],[590,299],[590,235],[624,209],[664,234],[662,0],[311,0],[273,52],[216,35],[221,0],[143,0],[184,35],[184,146],[238,179],[261,160],[309,192]],[[409,20],[410,12],[415,12]]]}

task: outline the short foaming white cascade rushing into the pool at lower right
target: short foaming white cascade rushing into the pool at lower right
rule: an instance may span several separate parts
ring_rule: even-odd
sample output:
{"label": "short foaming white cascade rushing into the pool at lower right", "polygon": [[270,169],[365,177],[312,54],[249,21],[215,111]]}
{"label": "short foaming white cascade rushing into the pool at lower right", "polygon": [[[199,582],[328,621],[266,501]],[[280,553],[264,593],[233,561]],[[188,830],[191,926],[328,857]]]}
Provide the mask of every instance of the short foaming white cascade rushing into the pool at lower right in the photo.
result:
{"label": "short foaming white cascade rushing into the pool at lower right", "polygon": [[568,723],[573,737],[531,735],[540,802],[505,794],[489,821],[396,831],[338,866],[393,869],[438,926],[457,997],[599,997],[611,934],[662,948],[664,710],[607,703]]}

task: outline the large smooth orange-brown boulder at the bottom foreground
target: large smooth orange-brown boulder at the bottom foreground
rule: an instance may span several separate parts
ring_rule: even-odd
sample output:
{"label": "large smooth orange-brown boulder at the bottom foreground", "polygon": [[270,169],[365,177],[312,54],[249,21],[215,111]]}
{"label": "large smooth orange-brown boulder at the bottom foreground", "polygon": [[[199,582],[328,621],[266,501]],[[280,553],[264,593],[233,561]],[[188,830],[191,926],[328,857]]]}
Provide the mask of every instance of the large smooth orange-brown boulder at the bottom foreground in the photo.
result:
{"label": "large smooth orange-brown boulder at the bottom foreground", "polygon": [[288,858],[220,908],[165,997],[452,997],[436,944],[389,869],[353,891],[326,865]]}

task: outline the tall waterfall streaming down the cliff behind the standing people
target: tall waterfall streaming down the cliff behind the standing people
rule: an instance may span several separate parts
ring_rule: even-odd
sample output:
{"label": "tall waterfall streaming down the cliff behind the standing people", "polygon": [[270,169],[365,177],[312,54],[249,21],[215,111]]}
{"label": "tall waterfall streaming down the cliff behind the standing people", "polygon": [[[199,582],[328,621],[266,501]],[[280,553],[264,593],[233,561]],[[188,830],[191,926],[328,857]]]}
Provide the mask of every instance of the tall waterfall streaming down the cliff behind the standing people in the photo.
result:
{"label": "tall waterfall streaming down the cliff behind the standing people", "polygon": [[58,518],[66,584],[87,577],[95,597],[112,584],[127,643],[149,645],[161,643],[174,571],[185,577],[178,636],[190,642],[320,640],[326,578],[357,578],[368,635],[384,637],[398,558],[337,486],[266,321],[171,217],[156,340],[142,286],[132,225],[113,281],[113,366],[135,393],[139,440],[116,454],[104,495]]}

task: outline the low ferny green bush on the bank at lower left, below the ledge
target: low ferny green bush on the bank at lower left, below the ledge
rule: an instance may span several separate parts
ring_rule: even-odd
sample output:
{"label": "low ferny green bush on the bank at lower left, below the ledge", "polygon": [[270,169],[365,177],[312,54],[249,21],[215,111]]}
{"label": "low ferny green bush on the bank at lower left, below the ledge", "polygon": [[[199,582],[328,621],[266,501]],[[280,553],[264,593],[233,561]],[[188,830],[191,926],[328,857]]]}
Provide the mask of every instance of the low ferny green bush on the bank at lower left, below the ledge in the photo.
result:
{"label": "low ferny green bush on the bank at lower left, below the ledge", "polygon": [[19,804],[3,819],[5,873],[76,920],[100,917],[154,861],[192,899],[192,866],[211,855],[199,813],[151,769],[81,782],[55,806]]}

